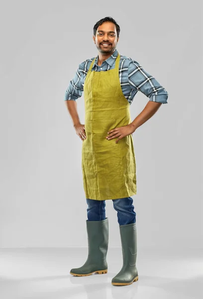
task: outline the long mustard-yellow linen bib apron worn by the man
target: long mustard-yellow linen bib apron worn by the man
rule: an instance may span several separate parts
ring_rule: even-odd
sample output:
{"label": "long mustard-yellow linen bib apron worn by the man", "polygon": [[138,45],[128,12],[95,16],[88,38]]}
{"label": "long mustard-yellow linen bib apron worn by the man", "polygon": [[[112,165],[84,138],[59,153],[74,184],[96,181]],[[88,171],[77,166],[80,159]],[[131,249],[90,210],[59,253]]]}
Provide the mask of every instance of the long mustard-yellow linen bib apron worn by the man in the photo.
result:
{"label": "long mustard-yellow linen bib apron worn by the man", "polygon": [[107,132],[131,123],[129,102],[122,93],[118,67],[91,71],[84,84],[85,132],[82,145],[82,171],[86,198],[118,199],[136,194],[136,163],[132,135],[116,144]]}

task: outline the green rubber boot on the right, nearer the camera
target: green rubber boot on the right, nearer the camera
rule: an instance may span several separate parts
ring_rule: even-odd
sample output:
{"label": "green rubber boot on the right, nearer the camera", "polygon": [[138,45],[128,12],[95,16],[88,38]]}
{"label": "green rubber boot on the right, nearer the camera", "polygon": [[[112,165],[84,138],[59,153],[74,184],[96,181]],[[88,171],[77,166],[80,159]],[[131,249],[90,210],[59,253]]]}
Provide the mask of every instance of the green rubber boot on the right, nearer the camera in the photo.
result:
{"label": "green rubber boot on the right, nearer the camera", "polygon": [[114,286],[127,286],[138,280],[136,268],[137,257],[137,230],[136,223],[120,225],[123,266],[120,272],[112,279]]}

